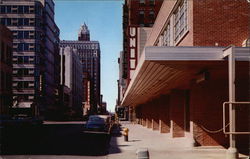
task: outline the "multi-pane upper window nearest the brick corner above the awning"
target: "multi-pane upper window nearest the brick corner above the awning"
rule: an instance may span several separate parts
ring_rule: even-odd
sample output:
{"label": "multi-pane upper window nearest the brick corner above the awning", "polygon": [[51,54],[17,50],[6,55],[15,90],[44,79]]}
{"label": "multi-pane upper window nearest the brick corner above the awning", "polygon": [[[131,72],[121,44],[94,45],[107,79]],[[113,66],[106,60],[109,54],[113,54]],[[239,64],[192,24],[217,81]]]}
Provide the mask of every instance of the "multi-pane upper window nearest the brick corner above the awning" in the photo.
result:
{"label": "multi-pane upper window nearest the brick corner above the awning", "polygon": [[187,0],[183,0],[174,13],[174,40],[177,42],[187,30]]}

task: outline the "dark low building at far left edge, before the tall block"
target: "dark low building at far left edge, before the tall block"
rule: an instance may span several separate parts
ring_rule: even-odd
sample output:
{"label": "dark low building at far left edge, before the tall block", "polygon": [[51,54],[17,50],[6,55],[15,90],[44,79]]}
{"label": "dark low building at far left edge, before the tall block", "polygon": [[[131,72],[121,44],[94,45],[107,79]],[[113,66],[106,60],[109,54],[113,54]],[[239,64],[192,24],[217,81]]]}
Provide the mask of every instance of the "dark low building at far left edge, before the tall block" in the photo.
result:
{"label": "dark low building at far left edge, before the tall block", "polygon": [[0,25],[0,115],[12,106],[12,33]]}

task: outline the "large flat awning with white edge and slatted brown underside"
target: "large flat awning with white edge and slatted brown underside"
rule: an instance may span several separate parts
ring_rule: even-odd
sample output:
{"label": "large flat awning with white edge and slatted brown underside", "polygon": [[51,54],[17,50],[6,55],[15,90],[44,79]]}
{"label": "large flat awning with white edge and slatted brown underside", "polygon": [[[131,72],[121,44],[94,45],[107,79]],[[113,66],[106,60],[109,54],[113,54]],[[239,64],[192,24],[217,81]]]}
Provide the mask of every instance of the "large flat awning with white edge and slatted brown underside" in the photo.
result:
{"label": "large flat awning with white edge and slatted brown underside", "polygon": [[[122,106],[137,106],[167,94],[171,89],[185,88],[204,68],[227,66],[225,47],[145,47],[134,75],[124,94]],[[249,47],[235,47],[237,61],[250,61]]]}

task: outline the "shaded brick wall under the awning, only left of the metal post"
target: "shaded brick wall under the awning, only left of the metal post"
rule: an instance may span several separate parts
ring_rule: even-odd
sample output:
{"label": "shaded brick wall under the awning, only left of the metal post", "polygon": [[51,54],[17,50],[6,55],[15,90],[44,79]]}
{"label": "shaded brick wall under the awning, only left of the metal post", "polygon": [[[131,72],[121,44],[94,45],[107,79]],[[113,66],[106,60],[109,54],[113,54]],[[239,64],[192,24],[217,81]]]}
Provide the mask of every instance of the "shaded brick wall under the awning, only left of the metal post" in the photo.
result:
{"label": "shaded brick wall under the awning, only left of the metal post", "polygon": [[[193,121],[194,138],[198,145],[227,145],[228,138],[222,131],[222,104],[228,101],[227,66],[209,70],[210,78],[194,84],[190,91],[190,119]],[[205,129],[204,129],[205,128]]]}

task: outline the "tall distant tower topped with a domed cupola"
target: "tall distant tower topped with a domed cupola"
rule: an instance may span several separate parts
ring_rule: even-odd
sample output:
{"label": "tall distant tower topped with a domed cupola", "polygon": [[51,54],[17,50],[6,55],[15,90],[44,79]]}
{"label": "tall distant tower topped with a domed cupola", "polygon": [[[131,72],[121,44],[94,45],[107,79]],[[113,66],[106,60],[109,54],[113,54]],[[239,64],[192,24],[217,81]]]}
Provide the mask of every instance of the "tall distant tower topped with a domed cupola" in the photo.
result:
{"label": "tall distant tower topped with a domed cupola", "polygon": [[84,112],[97,113],[100,103],[100,45],[90,40],[89,29],[82,25],[78,40],[62,40],[60,47],[77,49],[82,63]]}

